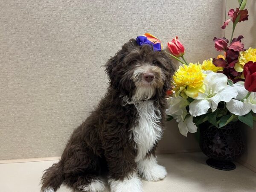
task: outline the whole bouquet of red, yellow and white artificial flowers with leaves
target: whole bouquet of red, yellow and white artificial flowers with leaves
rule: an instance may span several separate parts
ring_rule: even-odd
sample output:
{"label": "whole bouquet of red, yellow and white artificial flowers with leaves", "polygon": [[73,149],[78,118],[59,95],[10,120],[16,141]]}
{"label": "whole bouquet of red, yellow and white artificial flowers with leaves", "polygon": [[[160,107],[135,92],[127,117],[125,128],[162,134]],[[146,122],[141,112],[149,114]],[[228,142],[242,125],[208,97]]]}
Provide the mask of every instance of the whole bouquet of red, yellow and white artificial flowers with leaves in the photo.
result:
{"label": "whole bouquet of red, yellow and white artificial flowers with leaves", "polygon": [[[223,52],[216,58],[201,63],[188,63],[185,48],[174,38],[167,46],[170,56],[181,65],[173,77],[173,90],[167,95],[169,120],[174,118],[180,133],[195,133],[198,125],[209,122],[210,126],[222,128],[230,122],[241,121],[253,128],[256,118],[256,49],[245,49],[239,35],[233,38],[236,25],[248,20],[248,11],[244,9],[246,0],[239,0],[239,8],[230,9],[233,31],[230,41],[226,38],[214,38],[215,49]],[[156,41],[158,42],[158,41]],[[159,45],[158,45],[159,47]]]}

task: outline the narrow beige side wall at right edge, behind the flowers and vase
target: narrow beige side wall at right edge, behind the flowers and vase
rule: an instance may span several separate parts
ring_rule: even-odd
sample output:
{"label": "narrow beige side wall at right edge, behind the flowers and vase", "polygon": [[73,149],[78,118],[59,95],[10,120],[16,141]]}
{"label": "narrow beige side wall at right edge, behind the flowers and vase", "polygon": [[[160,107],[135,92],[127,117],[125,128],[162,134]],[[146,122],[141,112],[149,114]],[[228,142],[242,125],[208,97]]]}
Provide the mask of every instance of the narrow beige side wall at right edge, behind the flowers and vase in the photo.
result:
{"label": "narrow beige side wall at right edge, behind the flowers and vase", "polygon": [[[237,1],[227,0],[227,12],[231,8],[236,8],[237,5]],[[242,42],[244,43],[245,48],[256,48],[256,1],[247,0],[246,8],[248,9],[249,20],[241,22],[237,25],[234,32],[234,37],[241,34],[244,36]],[[226,37],[230,38],[231,32],[232,25],[227,27]],[[244,133],[247,138],[247,151],[241,158],[241,161],[245,164],[245,166],[256,172],[256,124],[254,123],[253,129],[244,126]]]}

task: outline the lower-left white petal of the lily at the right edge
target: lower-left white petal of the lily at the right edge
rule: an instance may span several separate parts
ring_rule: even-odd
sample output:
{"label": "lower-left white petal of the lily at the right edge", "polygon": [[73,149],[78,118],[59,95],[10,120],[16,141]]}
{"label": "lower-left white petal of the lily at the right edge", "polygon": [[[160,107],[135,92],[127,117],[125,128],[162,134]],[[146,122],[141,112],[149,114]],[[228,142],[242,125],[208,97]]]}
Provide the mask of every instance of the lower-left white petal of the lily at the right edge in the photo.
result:
{"label": "lower-left white petal of the lily at the right edge", "polygon": [[239,116],[246,115],[251,111],[250,104],[241,102],[236,99],[231,99],[230,102],[227,102],[226,107],[228,111]]}

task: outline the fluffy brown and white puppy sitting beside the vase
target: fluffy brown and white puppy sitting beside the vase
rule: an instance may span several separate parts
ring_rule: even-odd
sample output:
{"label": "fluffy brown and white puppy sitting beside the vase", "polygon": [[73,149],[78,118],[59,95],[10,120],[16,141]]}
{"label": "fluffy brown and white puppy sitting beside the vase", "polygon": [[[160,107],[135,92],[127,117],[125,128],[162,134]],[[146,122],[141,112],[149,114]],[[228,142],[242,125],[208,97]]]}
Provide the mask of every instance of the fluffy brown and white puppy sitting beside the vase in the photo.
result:
{"label": "fluffy brown and white puppy sitting beside the vase", "polygon": [[61,160],[44,172],[43,192],[55,192],[61,183],[102,192],[103,172],[111,192],[142,192],[138,174],[150,181],[166,176],[155,149],[162,135],[166,90],[175,72],[171,59],[131,39],[105,66],[108,91],[74,130]]}

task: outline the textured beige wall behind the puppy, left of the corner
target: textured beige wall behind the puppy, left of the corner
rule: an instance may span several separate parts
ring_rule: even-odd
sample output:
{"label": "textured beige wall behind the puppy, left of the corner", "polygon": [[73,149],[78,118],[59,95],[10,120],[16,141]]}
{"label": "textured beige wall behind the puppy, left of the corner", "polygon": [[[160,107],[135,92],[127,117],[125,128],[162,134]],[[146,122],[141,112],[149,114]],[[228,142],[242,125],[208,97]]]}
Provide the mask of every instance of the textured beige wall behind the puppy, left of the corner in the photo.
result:
{"label": "textured beige wall behind the puppy, left of the corner", "polygon": [[[8,0],[0,6],[0,159],[60,156],[107,88],[101,67],[130,38],[175,35],[187,59],[217,55],[222,1]],[[198,150],[166,126],[160,152]]]}

